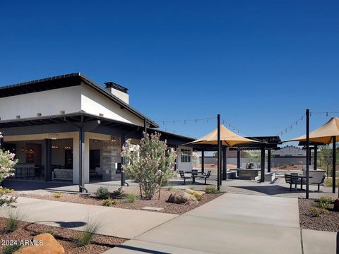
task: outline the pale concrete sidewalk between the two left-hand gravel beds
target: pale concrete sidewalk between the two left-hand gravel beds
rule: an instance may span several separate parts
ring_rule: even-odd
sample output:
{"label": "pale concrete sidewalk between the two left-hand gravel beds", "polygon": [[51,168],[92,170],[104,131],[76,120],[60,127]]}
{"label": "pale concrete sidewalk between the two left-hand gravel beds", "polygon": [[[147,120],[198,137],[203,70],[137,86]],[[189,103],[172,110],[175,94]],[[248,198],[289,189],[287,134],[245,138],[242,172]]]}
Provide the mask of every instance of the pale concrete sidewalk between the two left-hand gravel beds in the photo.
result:
{"label": "pale concrete sidewalk between the two left-hand gravel beds", "polygon": [[17,206],[23,212],[25,222],[81,230],[89,219],[102,224],[98,234],[121,238],[134,238],[178,216],[23,197],[18,198]]}

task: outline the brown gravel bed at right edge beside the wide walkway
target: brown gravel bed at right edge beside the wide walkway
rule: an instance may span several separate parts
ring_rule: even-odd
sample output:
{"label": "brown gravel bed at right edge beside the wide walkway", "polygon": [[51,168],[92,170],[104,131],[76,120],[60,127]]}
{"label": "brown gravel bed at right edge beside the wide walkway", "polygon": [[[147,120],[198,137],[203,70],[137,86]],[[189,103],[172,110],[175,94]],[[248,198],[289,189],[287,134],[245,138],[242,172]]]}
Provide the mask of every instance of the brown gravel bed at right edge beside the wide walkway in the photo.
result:
{"label": "brown gravel bed at right edge beside the wide walkway", "polygon": [[299,198],[299,219],[303,229],[314,229],[320,231],[339,231],[339,212],[333,210],[333,205],[328,213],[320,214],[319,217],[311,217],[309,208],[313,207],[314,199]]}

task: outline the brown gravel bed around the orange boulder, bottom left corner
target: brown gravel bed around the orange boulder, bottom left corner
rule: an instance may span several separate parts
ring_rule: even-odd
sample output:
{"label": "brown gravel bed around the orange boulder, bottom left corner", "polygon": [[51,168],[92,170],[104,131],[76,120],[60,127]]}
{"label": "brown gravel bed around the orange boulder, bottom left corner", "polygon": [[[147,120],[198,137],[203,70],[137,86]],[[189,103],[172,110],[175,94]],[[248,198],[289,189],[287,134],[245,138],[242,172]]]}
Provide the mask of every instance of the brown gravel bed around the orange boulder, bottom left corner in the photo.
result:
{"label": "brown gravel bed around the orange boulder, bottom left corner", "polygon": [[[76,254],[97,254],[105,252],[110,248],[124,243],[126,239],[117,238],[113,236],[102,236],[96,234],[93,238],[93,243],[78,247],[75,242],[75,238],[79,231],[73,229],[61,229],[56,226],[46,226],[42,224],[34,224],[29,222],[20,222],[19,228],[13,233],[6,234],[6,219],[0,217],[0,239],[2,240],[30,240],[33,236],[43,233],[52,233],[54,238],[64,247],[65,253]],[[0,253],[6,248],[6,246],[0,245]]]}

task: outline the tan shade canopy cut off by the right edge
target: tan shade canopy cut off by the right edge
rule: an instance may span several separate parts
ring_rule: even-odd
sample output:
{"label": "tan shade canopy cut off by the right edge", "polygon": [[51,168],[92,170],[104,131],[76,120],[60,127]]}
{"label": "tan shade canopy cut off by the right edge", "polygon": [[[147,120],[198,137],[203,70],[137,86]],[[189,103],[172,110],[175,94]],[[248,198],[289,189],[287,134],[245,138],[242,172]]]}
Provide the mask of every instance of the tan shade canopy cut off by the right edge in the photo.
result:
{"label": "tan shade canopy cut off by the right edge", "polygon": [[[330,121],[315,131],[309,133],[309,142],[330,144],[333,142],[333,136],[339,138],[339,118],[332,117]],[[287,141],[306,141],[306,135],[293,138]],[[286,141],[285,141],[286,142]]]}

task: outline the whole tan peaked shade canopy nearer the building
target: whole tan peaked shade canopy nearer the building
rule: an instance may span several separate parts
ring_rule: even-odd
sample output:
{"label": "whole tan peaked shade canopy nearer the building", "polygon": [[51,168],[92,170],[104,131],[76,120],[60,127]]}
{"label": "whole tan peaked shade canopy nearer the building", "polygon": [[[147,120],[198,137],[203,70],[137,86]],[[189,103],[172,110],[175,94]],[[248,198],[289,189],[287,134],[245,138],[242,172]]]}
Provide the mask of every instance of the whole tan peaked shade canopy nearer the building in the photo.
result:
{"label": "whole tan peaked shade canopy nearer the building", "polygon": [[[259,143],[258,141],[237,135],[223,125],[220,125],[220,140],[221,145],[227,145],[228,147],[244,143]],[[213,131],[203,136],[203,138],[199,138],[193,142],[187,143],[186,145],[189,144],[218,145],[218,128],[215,128]]]}

